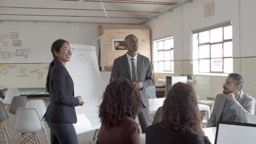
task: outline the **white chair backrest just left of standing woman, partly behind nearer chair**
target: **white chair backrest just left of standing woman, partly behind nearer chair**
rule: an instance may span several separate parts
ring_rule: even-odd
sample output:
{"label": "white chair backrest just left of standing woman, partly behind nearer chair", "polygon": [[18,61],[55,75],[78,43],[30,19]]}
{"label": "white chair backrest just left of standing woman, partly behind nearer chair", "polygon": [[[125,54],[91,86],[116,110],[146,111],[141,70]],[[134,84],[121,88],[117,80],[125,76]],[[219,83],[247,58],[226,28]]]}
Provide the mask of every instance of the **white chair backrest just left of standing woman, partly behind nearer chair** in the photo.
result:
{"label": "white chair backrest just left of standing woman, partly behind nearer chair", "polygon": [[46,112],[46,105],[42,99],[32,99],[27,101],[26,107],[32,107],[37,110],[39,118],[42,119]]}

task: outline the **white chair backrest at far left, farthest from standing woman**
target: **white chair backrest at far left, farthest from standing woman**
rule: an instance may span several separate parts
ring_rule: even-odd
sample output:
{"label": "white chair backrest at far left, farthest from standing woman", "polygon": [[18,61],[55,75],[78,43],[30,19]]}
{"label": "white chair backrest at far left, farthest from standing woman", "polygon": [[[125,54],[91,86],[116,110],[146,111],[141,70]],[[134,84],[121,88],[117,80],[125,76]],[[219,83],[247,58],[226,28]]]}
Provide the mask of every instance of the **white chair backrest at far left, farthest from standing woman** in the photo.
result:
{"label": "white chair backrest at far left, farthest from standing woman", "polygon": [[3,102],[3,104],[10,105],[13,97],[19,95],[20,93],[18,88],[8,88],[6,91],[4,91],[4,99],[2,99],[1,101]]}

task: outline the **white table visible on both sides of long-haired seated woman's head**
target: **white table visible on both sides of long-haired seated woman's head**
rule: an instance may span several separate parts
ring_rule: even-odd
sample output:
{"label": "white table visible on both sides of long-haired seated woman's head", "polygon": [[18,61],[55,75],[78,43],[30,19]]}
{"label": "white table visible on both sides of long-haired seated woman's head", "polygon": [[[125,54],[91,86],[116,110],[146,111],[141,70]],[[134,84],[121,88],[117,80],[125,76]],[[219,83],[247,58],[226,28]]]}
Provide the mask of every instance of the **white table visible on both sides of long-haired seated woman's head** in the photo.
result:
{"label": "white table visible on both sides of long-haired seated woman's head", "polygon": [[[156,110],[164,104],[165,98],[148,99],[150,116],[154,116]],[[210,106],[198,104],[199,111],[206,111],[206,121],[210,118]]]}

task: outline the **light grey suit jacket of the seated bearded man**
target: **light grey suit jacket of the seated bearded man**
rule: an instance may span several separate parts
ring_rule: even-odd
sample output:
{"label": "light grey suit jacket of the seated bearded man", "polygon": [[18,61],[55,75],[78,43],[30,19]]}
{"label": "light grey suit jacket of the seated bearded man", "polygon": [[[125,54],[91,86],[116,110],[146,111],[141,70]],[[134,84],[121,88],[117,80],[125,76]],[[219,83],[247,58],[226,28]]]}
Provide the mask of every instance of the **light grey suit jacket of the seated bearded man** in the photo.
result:
{"label": "light grey suit jacket of the seated bearded man", "polygon": [[[217,122],[222,116],[222,111],[226,100],[228,99],[223,93],[216,96],[211,117],[207,122],[207,127],[217,127]],[[255,99],[241,91],[240,97],[238,97],[236,103],[230,107],[230,109],[234,111],[234,114],[232,115],[232,121],[246,122],[246,113],[254,115],[254,105]]]}

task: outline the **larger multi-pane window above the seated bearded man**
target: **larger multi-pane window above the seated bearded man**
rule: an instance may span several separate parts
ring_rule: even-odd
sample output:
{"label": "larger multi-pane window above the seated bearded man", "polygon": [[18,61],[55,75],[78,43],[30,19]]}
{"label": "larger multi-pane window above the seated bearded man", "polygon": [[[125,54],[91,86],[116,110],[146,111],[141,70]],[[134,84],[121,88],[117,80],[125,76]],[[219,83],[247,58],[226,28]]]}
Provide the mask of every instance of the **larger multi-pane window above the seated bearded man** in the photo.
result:
{"label": "larger multi-pane window above the seated bearded man", "polygon": [[231,22],[193,31],[193,71],[194,74],[232,73]]}

